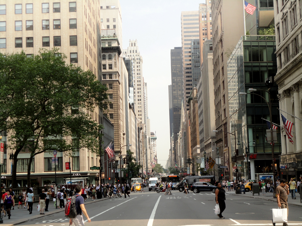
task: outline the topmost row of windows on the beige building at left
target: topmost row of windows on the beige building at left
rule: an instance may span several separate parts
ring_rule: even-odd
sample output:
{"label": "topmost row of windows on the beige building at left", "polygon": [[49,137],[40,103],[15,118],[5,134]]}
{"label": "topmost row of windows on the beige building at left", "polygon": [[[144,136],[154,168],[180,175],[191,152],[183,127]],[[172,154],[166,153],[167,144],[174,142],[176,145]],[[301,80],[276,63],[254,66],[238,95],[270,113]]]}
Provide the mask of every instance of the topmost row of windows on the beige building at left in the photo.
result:
{"label": "topmost row of windows on the beige building at left", "polygon": [[[33,13],[33,4],[25,4],[26,13]],[[53,12],[60,13],[61,12],[61,3],[54,2],[53,3]],[[69,2],[69,12],[76,12],[76,2]],[[49,3],[42,3],[42,13],[49,13]],[[6,14],[6,5],[0,5],[0,15]],[[15,14],[22,14],[22,4],[15,4]]]}

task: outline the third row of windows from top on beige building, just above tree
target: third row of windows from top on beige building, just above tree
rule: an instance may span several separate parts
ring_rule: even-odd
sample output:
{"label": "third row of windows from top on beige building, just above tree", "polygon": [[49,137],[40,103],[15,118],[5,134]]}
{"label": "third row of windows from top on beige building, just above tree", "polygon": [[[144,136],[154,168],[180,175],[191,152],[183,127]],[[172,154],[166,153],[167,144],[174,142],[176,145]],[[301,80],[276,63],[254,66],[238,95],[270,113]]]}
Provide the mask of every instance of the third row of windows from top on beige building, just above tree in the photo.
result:
{"label": "third row of windows from top on beige building, just above tree", "polygon": [[[26,47],[34,47],[34,37],[26,37]],[[77,36],[71,35],[69,36],[69,45],[77,46]],[[49,47],[50,46],[50,36],[42,37],[42,46]],[[53,46],[61,46],[61,36],[53,36]],[[6,38],[0,39],[0,49],[6,48]],[[15,38],[15,48],[23,48],[22,37]]]}

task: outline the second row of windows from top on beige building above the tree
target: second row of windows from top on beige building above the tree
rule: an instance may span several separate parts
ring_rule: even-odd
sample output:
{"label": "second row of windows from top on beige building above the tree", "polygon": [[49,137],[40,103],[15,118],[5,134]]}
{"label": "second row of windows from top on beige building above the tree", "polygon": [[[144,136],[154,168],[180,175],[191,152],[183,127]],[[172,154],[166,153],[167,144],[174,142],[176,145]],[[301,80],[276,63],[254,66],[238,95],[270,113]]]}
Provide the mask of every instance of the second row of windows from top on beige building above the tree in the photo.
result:
{"label": "second row of windows from top on beige building above the tree", "polygon": [[[76,19],[69,19],[69,29],[76,29],[77,23]],[[53,29],[58,30],[61,29],[61,20],[55,19],[53,20]],[[15,21],[15,31],[22,30],[22,20]],[[34,21],[26,20],[26,28],[27,31],[34,30]],[[42,20],[42,30],[49,30],[49,20]],[[6,21],[0,21],[0,31],[6,31]]]}

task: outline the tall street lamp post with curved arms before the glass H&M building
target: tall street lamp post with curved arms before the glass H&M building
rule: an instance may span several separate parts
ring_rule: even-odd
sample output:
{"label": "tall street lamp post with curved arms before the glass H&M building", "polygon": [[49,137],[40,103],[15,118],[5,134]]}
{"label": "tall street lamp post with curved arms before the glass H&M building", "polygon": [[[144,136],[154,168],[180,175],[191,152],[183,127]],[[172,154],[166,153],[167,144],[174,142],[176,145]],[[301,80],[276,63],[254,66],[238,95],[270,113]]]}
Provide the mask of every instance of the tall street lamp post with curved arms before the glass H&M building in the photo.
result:
{"label": "tall street lamp post with curved arms before the glass H&M building", "polygon": [[[268,93],[268,101],[261,95],[257,94],[257,93],[239,93],[239,95],[246,95],[246,94],[254,94],[254,95],[257,95],[257,96],[260,96],[262,99],[265,100],[265,102],[267,103],[268,105],[268,110],[269,110],[269,118],[270,118],[270,123],[271,123],[271,157],[273,159],[273,165],[272,165],[272,171],[273,171],[273,182],[274,182],[274,193],[273,193],[273,197],[276,198],[276,181],[275,181],[275,155],[274,155],[274,138],[273,138],[273,122],[272,122],[272,118],[271,118],[271,94],[264,90],[264,89],[253,89],[253,88],[250,88],[249,91],[250,92],[253,92],[253,91],[257,91],[257,90],[260,90],[260,91],[264,91],[266,93]],[[269,90],[269,89],[268,89]]]}

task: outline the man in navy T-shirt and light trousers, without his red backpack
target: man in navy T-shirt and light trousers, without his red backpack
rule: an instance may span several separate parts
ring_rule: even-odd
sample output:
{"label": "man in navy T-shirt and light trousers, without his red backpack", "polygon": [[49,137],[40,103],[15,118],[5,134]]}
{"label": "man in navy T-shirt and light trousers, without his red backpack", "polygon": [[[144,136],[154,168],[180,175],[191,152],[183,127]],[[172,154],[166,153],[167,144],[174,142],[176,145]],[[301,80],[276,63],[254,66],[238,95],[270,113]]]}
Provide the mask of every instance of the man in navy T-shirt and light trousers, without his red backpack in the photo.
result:
{"label": "man in navy T-shirt and light trousers, without his red backpack", "polygon": [[76,196],[76,217],[70,218],[69,225],[72,225],[72,221],[76,226],[83,226],[84,220],[82,213],[84,213],[85,217],[87,218],[87,221],[90,222],[90,218],[88,217],[87,211],[84,206],[84,198],[81,196],[82,194],[82,187],[81,185],[77,185],[75,188],[75,196]]}

